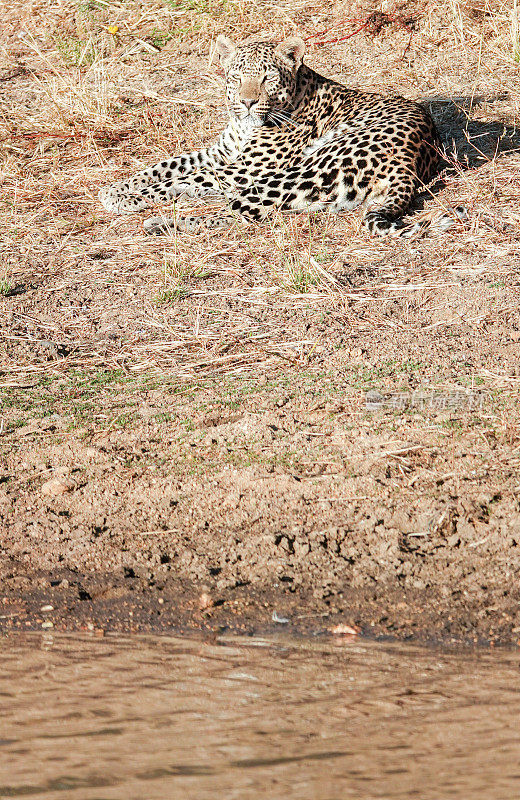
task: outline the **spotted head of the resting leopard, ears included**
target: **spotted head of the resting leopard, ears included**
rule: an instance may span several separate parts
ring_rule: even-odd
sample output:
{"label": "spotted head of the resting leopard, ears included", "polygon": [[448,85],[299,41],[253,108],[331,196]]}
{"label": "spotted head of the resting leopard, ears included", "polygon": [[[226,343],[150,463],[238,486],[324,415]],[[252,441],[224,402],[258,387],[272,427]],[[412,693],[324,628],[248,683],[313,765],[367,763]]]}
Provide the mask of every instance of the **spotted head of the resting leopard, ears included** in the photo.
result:
{"label": "spotted head of the resting leopard, ears included", "polygon": [[254,42],[238,46],[227,36],[217,38],[217,52],[226,73],[226,97],[231,117],[263,125],[276,111],[289,113],[305,44],[298,36],[278,45]]}

